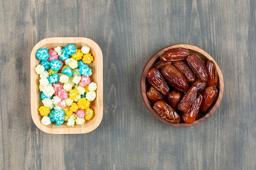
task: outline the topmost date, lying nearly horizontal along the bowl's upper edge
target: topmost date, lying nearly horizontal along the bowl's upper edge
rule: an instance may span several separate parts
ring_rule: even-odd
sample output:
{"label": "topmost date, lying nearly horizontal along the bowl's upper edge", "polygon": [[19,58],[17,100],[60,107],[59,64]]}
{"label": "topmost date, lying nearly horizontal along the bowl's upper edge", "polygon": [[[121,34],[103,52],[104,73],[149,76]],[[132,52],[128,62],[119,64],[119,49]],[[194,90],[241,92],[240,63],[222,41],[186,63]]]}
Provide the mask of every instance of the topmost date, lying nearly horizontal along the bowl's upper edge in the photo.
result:
{"label": "topmost date, lying nearly horizontal along the bowl's upper edge", "polygon": [[165,51],[160,55],[159,59],[162,62],[171,62],[177,60],[183,60],[189,56],[189,50],[184,48],[175,48]]}

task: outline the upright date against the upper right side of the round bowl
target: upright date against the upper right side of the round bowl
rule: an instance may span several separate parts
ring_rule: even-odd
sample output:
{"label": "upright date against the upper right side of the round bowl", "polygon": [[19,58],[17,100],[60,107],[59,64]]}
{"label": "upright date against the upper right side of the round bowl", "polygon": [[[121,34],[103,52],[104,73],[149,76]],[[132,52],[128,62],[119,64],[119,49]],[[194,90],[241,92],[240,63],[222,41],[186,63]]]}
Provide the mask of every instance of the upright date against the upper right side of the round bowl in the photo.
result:
{"label": "upright date against the upper right side of the round bowl", "polygon": [[219,76],[214,62],[212,60],[208,60],[205,63],[205,67],[208,75],[207,86],[216,87],[218,85]]}

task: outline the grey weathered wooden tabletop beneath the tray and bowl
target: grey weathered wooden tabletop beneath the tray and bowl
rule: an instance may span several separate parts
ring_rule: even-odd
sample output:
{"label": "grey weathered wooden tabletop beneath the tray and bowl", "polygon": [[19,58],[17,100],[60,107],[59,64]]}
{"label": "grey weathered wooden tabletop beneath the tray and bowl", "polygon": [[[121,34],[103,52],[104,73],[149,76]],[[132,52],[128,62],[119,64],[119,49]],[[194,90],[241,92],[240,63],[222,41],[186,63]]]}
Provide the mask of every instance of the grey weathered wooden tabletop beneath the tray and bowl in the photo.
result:
{"label": "grey weathered wooden tabletop beneath the tray and bowl", "polygon": [[[253,170],[256,167],[254,0],[1,0],[0,170]],[[30,112],[30,53],[49,37],[86,37],[103,52],[103,119],[52,135]],[[218,63],[216,113],[177,128],[144,106],[139,79],[166,46],[192,44]]]}

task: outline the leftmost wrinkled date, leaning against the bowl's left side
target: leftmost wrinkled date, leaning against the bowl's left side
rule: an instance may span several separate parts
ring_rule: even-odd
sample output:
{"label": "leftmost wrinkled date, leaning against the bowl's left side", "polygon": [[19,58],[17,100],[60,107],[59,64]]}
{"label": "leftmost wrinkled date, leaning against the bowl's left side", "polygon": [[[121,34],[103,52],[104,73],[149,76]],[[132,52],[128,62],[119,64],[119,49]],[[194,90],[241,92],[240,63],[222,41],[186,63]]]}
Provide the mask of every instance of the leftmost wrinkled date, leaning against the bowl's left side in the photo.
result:
{"label": "leftmost wrinkled date, leaning against the bowl's left side", "polygon": [[151,68],[147,73],[148,82],[152,84],[157,90],[161,91],[163,95],[168,95],[170,92],[167,82],[164,80],[162,74],[156,69]]}

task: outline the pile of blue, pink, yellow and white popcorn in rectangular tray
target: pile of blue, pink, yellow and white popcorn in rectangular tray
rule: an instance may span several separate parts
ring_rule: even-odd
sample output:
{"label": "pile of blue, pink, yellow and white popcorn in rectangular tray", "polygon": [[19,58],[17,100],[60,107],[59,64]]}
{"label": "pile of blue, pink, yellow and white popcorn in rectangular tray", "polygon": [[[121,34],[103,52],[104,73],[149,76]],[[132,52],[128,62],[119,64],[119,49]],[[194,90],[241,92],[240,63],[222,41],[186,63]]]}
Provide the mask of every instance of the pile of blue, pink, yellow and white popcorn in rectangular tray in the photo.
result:
{"label": "pile of blue, pink, yellow and white popcorn in rectangular tray", "polygon": [[43,116],[41,123],[56,122],[59,126],[67,121],[67,126],[74,126],[92,119],[90,102],[96,97],[97,84],[91,82],[92,69],[87,65],[93,62],[90,48],[76,49],[69,44],[64,48],[38,49],[36,57],[41,60],[36,66],[43,103],[38,108]]}

